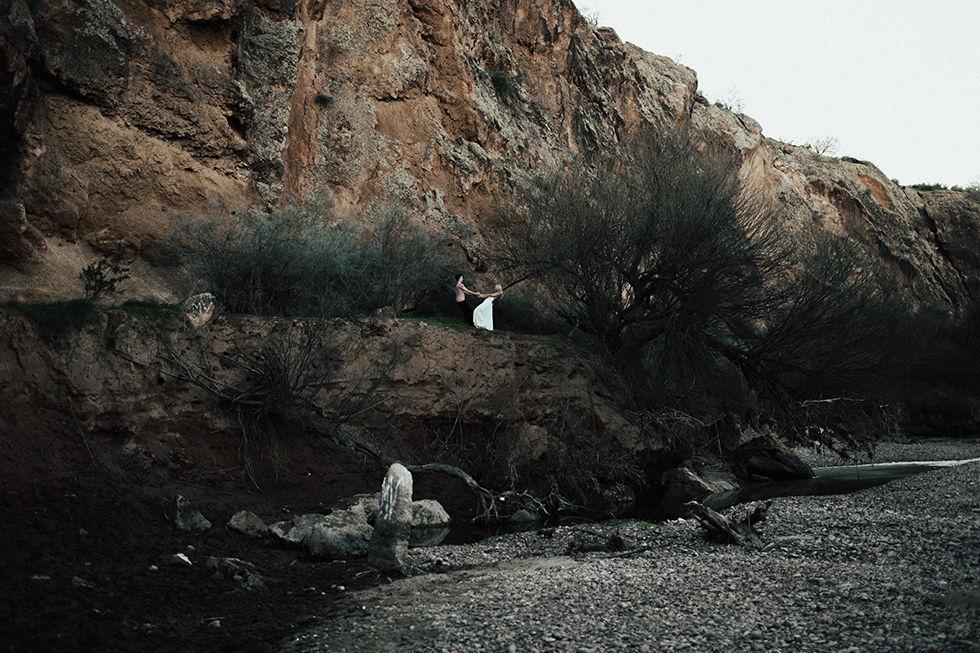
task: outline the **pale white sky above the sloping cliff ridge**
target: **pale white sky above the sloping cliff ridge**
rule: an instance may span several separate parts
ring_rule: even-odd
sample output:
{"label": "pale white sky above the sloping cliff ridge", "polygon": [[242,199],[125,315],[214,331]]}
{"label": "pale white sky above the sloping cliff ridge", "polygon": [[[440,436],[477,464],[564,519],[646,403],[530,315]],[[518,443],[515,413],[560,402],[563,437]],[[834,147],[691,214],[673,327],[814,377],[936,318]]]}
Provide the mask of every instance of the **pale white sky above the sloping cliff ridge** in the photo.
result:
{"label": "pale white sky above the sloping cliff ridge", "polygon": [[575,0],[771,138],[904,185],[980,183],[980,0]]}

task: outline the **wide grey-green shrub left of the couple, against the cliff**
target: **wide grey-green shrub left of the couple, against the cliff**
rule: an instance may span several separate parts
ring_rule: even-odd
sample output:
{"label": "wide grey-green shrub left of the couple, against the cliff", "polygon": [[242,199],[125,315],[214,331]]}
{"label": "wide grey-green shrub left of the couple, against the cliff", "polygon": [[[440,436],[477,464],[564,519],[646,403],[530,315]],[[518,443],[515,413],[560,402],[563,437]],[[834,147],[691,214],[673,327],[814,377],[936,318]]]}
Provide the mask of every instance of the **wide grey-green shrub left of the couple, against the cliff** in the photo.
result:
{"label": "wide grey-green shrub left of the couple, against the cliff", "polygon": [[417,310],[437,279],[445,296],[448,252],[398,209],[358,230],[312,202],[175,216],[158,260],[186,265],[233,312],[337,317]]}

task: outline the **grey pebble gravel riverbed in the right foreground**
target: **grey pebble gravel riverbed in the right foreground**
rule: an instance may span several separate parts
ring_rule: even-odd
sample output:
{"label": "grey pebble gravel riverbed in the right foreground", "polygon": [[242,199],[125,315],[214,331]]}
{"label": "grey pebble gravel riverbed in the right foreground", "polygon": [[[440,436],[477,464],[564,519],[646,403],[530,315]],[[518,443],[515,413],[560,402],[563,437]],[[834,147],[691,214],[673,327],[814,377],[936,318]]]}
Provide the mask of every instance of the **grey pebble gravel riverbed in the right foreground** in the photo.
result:
{"label": "grey pebble gravel riverbed in the right foreground", "polygon": [[[980,440],[875,454],[973,458]],[[413,549],[420,573],[347,593],[280,650],[980,651],[980,462],[777,498],[761,533],[751,550],[693,519],[620,521]]]}

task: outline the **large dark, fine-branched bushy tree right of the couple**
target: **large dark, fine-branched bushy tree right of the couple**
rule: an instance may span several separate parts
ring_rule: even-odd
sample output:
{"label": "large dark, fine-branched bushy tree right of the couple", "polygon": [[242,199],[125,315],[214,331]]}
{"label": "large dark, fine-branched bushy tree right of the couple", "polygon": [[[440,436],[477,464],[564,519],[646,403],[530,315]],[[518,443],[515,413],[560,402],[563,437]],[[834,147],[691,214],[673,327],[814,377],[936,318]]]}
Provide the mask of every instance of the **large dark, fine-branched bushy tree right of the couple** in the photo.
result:
{"label": "large dark, fine-branched bushy tree right of the couple", "polygon": [[612,363],[637,406],[882,377],[904,322],[867,262],[856,272],[833,239],[796,251],[725,156],[681,137],[635,151],[628,165],[533,180],[491,220],[489,240],[498,265],[535,278]]}

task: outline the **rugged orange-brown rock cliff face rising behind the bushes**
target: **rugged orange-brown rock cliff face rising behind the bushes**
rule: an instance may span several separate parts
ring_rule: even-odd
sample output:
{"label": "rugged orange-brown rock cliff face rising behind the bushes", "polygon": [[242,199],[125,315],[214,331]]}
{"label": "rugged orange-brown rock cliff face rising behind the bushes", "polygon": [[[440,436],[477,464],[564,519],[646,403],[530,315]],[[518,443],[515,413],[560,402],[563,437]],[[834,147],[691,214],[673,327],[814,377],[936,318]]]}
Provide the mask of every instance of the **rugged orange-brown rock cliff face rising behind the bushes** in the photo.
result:
{"label": "rugged orange-brown rock cliff face rising behind the bushes", "polygon": [[[3,0],[0,15],[7,296],[76,295],[93,256],[145,257],[171,212],[219,195],[326,193],[348,219],[397,203],[472,255],[499,189],[645,124],[738,150],[790,228],[865,243],[919,301],[977,293],[975,203],[771,141],[567,0]],[[134,294],[172,292],[136,273]]]}

